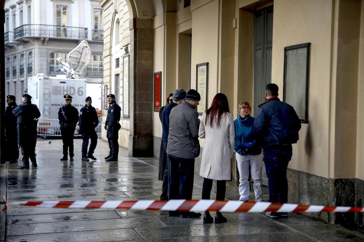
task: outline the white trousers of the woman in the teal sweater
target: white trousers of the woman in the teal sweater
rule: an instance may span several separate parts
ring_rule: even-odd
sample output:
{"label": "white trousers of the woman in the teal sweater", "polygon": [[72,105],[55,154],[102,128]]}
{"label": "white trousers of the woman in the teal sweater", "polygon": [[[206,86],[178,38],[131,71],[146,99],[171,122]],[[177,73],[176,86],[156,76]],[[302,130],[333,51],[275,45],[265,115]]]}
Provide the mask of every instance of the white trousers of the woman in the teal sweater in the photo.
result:
{"label": "white trousers of the woman in the teal sweater", "polygon": [[238,171],[240,175],[239,193],[240,200],[248,201],[249,198],[249,165],[251,178],[254,181],[253,188],[255,201],[263,200],[262,192],[262,154],[260,155],[240,155],[236,152],[236,161],[238,163]]}

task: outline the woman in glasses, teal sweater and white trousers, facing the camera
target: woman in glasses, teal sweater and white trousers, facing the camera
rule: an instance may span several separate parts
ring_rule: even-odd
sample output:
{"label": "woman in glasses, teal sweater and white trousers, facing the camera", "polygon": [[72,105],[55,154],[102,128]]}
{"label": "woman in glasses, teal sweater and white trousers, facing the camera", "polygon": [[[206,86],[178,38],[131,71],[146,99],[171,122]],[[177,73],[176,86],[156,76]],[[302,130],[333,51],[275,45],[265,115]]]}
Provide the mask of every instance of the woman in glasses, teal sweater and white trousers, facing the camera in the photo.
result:
{"label": "woman in glasses, teal sweater and white trousers, facing the camera", "polygon": [[253,188],[255,201],[263,201],[262,193],[262,149],[257,145],[253,137],[254,118],[250,116],[248,102],[238,105],[238,118],[234,120],[236,161],[240,175],[239,193],[240,201],[249,199],[249,165],[251,178],[254,180]]}

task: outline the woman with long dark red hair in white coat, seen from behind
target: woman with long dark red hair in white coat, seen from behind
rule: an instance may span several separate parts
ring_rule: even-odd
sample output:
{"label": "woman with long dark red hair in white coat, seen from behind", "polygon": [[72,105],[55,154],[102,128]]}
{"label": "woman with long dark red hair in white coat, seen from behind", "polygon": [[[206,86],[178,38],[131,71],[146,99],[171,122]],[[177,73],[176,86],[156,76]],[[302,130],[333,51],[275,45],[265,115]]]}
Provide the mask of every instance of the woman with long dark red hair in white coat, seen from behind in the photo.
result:
{"label": "woman with long dark red hair in white coat, seen from behind", "polygon": [[[203,112],[198,135],[205,138],[200,176],[203,179],[202,199],[210,199],[213,180],[217,181],[216,200],[225,200],[226,180],[230,180],[230,160],[234,152],[234,122],[225,94],[215,95],[211,107]],[[214,220],[205,212],[203,223]],[[216,213],[215,223],[225,223],[226,218]]]}

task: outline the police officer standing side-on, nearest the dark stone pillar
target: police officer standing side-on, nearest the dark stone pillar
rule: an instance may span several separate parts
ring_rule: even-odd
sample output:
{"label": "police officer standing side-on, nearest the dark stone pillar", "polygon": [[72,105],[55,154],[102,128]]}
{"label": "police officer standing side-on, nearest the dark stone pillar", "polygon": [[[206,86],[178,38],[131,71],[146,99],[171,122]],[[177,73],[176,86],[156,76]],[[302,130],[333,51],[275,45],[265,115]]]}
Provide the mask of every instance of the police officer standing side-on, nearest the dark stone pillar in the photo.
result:
{"label": "police officer standing side-on, nearest the dark stone pillar", "polygon": [[107,118],[105,122],[105,130],[107,130],[107,140],[109,142],[110,154],[105,157],[106,161],[117,161],[119,154],[119,129],[120,129],[120,112],[121,108],[115,102],[115,95],[107,96],[109,107],[107,109]]}

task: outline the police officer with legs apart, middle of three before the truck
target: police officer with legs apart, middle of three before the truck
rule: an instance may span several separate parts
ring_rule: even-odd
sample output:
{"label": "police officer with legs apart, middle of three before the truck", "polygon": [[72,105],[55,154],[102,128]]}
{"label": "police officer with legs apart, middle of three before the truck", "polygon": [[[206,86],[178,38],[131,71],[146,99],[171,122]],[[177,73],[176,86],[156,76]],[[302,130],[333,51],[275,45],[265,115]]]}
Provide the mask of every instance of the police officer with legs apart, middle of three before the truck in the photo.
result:
{"label": "police officer with legs apart, middle of three before the truck", "polygon": [[[80,127],[79,133],[82,135],[82,161],[89,161],[88,158],[96,160],[92,155],[97,144],[97,134],[95,128],[99,124],[99,118],[94,107],[91,106],[91,97],[87,97],[86,105],[80,110],[80,117],[78,118],[78,126]],[[88,139],[91,139],[90,149],[87,153]]]}

